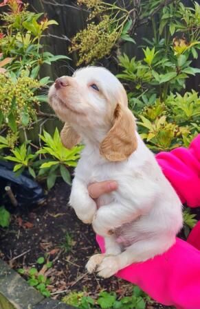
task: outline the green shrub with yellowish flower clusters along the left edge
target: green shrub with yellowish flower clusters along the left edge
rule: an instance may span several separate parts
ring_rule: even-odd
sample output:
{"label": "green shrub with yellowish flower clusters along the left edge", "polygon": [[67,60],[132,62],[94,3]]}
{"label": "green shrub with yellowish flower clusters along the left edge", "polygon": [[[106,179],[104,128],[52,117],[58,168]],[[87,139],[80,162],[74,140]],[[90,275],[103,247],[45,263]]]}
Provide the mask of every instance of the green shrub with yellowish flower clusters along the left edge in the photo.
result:
{"label": "green shrub with yellowish flower clusters along the left edge", "polygon": [[38,144],[45,143],[38,148],[27,139],[27,132],[41,121],[41,104],[47,101],[41,89],[48,89],[50,80],[49,76],[40,77],[41,67],[69,58],[54,56],[41,44],[49,25],[58,25],[56,21],[30,12],[16,0],[8,1],[6,8],[0,26],[0,156],[14,162],[16,176],[27,170],[37,180],[46,180],[51,189],[59,176],[70,183],[68,168],[76,166],[82,147],[64,148],[56,128],[53,137],[45,130],[38,136]]}

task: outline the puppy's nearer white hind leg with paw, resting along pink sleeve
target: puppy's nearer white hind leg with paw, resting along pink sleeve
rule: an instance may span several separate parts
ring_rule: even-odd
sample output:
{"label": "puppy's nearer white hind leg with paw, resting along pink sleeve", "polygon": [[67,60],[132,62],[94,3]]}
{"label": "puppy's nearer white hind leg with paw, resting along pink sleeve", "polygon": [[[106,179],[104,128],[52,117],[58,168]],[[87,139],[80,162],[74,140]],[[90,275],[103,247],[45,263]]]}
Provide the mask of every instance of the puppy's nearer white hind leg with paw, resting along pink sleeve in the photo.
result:
{"label": "puppy's nearer white hind leg with paw, resting along pink sleeve", "polygon": [[167,236],[137,241],[119,255],[105,256],[98,266],[98,275],[104,278],[111,277],[132,263],[144,262],[164,253],[174,242],[175,238]]}

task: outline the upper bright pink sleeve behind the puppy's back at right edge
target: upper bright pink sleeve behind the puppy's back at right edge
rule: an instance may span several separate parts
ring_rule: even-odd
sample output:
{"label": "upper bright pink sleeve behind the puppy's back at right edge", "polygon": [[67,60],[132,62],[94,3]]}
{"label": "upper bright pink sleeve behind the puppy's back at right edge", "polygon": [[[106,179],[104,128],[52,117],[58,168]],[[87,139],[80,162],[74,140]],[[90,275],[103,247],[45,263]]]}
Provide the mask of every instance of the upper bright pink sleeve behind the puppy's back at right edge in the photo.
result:
{"label": "upper bright pink sleeve behind the puppy's back at right edge", "polygon": [[200,205],[200,135],[190,147],[180,147],[156,156],[166,178],[173,185],[182,203],[190,207]]}

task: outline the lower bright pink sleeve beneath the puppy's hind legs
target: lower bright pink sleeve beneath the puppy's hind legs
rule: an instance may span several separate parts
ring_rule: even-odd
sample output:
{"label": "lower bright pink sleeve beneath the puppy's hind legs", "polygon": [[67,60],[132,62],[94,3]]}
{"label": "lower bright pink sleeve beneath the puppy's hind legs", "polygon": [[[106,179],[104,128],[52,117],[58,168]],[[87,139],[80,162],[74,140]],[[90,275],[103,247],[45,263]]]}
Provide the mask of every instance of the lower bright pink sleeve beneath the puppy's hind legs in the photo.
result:
{"label": "lower bright pink sleeve beneath the puppy's hind legs", "polygon": [[[104,251],[104,241],[97,236]],[[163,255],[152,260],[131,264],[117,274],[137,284],[153,299],[179,309],[200,308],[200,251],[177,238]]]}

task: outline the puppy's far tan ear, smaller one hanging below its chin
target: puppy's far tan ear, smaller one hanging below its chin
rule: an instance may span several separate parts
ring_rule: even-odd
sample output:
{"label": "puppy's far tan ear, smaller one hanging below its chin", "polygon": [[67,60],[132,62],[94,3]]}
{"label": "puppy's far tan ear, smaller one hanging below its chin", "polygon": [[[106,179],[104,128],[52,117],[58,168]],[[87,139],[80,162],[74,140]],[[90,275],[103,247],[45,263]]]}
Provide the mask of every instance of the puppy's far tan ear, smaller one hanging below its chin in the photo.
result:
{"label": "puppy's far tan ear, smaller one hanging below its chin", "polygon": [[65,125],[63,126],[63,129],[60,132],[60,139],[62,141],[63,146],[65,146],[65,148],[68,149],[71,149],[80,142],[80,136],[78,135],[76,130],[74,130],[74,128],[72,128],[71,126],[69,126],[69,124],[67,124],[67,122],[65,122]]}

